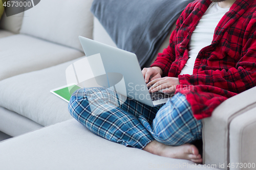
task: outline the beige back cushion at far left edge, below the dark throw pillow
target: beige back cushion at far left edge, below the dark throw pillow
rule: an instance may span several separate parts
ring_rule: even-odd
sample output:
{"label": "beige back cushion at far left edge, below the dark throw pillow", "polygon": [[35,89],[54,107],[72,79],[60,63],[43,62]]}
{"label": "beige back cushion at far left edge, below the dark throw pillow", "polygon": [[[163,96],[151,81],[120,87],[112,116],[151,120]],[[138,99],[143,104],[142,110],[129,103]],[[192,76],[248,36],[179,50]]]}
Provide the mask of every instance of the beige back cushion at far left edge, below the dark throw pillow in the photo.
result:
{"label": "beige back cushion at far left edge, below the dark throw pillow", "polygon": [[[20,0],[20,1],[22,2],[24,0]],[[5,8],[5,11],[9,13],[12,13],[13,10],[15,9],[11,7]],[[4,13],[0,21],[0,29],[4,29],[4,30],[11,31],[13,33],[18,34],[20,31],[20,28],[22,27],[23,14],[24,12],[7,17],[6,14]]]}

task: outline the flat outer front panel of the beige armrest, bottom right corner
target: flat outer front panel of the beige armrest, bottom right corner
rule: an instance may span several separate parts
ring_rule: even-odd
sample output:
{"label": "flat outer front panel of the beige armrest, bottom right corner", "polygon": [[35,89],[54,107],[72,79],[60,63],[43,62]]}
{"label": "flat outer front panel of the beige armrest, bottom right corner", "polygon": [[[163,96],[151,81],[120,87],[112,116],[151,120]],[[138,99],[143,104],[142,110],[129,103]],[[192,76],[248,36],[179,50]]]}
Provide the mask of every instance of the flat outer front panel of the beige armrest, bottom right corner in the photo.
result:
{"label": "flat outer front panel of the beige armrest, bottom right corner", "polygon": [[256,108],[234,118],[229,127],[230,169],[255,169]]}

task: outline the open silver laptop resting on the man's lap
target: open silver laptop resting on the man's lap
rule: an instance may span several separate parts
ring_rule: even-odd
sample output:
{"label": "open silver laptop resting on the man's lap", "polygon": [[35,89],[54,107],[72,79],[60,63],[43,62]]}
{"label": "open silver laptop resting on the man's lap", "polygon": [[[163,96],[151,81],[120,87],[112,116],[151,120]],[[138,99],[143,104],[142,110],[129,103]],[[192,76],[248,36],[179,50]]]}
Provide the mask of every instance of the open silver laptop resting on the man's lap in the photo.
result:
{"label": "open silver laptop resting on the man's lap", "polygon": [[[118,82],[120,80],[119,75],[121,75],[124,80],[124,90],[121,90],[123,95],[151,107],[166,103],[169,98],[172,98],[173,94],[148,92],[137,56],[134,53],[81,36],[79,36],[79,40],[87,57],[100,54],[108,79],[112,79],[112,82]],[[89,64],[93,73],[98,71],[97,62],[90,62],[89,60]],[[110,87],[111,85],[110,83],[103,83],[102,86]]]}

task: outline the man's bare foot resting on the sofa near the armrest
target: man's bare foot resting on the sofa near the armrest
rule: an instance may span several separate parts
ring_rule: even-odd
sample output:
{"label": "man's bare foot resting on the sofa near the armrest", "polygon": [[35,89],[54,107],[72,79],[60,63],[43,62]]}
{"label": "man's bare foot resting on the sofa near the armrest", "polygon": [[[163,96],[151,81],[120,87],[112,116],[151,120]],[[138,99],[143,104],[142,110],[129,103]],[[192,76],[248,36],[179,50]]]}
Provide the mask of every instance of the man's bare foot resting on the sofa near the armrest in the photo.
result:
{"label": "man's bare foot resting on the sofa near the armrest", "polygon": [[201,163],[203,161],[197,147],[188,143],[178,147],[173,147],[153,140],[148,143],[143,150],[168,158],[187,159],[196,163]]}

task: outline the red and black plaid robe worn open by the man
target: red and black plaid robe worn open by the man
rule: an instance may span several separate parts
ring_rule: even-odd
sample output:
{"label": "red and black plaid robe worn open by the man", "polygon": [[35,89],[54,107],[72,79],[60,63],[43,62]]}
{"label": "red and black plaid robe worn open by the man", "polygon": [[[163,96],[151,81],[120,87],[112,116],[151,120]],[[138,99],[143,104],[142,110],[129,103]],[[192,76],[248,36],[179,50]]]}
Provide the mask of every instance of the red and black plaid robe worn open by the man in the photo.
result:
{"label": "red and black plaid robe worn open by the man", "polygon": [[170,44],[151,66],[163,77],[178,77],[176,93],[186,94],[197,119],[211,116],[226,99],[256,85],[256,1],[237,0],[218,23],[214,39],[198,54],[193,75],[179,75],[188,43],[210,0],[190,3],[177,21]]}

